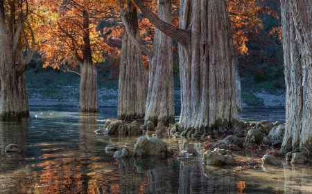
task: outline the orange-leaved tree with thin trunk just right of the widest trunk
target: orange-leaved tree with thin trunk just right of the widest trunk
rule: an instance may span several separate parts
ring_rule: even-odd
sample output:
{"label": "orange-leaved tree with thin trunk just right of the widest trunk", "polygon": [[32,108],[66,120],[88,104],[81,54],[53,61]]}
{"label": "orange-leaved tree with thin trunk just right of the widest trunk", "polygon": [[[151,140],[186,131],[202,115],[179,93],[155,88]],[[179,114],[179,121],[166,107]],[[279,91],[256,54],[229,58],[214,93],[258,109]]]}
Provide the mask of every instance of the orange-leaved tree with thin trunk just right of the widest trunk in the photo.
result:
{"label": "orange-leaved tree with thin trunk just right of the widest trunk", "polygon": [[[270,39],[271,36],[268,34],[271,29],[263,29],[264,15],[274,17],[275,20],[279,18],[277,12],[268,7],[270,1],[272,0],[227,0],[235,47],[236,104],[239,109],[242,108],[239,69],[241,70],[241,74],[248,72],[253,76],[258,76],[254,72],[257,72],[261,68],[261,63],[255,62],[255,59],[268,58],[267,61],[270,60],[271,63],[275,64],[277,61],[277,64],[280,64],[278,63],[278,52],[270,52],[266,56],[263,56],[265,49],[268,49],[272,44],[276,44]],[[267,23],[269,22],[267,21]],[[257,49],[254,47],[257,47]],[[269,56],[272,57],[269,58]]]}

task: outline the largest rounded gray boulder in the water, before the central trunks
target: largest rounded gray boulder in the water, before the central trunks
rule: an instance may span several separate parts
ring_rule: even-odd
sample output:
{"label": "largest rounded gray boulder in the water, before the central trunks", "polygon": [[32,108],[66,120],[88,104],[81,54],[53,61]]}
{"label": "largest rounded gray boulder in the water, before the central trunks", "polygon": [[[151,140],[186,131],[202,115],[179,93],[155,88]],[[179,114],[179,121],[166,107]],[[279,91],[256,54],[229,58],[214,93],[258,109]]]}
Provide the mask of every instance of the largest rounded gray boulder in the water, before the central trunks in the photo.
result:
{"label": "largest rounded gray boulder in the water, before the central trunks", "polygon": [[137,157],[142,156],[166,156],[167,144],[155,137],[142,136],[137,139],[133,155]]}

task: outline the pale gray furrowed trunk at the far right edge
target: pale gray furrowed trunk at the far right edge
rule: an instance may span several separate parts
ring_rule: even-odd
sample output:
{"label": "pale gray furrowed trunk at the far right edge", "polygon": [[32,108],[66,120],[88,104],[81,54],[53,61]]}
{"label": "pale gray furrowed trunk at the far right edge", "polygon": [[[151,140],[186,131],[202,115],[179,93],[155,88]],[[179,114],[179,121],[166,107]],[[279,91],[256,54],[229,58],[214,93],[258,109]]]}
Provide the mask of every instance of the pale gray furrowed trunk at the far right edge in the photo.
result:
{"label": "pale gray furrowed trunk at the far right edge", "polygon": [[286,131],[281,151],[312,148],[312,1],[281,1]]}

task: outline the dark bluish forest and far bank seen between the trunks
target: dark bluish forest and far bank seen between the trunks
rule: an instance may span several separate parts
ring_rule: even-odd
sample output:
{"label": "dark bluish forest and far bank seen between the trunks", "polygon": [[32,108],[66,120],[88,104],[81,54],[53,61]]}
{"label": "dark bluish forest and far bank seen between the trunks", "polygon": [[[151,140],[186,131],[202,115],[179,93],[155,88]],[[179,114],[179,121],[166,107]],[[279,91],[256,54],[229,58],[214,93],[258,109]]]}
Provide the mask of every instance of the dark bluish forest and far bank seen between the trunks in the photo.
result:
{"label": "dark bluish forest and far bank seen between the trunks", "polygon": [[[260,13],[261,28],[245,30],[245,46],[248,52],[239,53],[241,96],[244,107],[284,108],[284,66],[281,45],[281,20],[279,3],[265,1],[272,12]],[[98,29],[112,28],[115,23],[103,21]],[[103,33],[103,31],[102,31]],[[177,50],[173,52],[175,77],[175,105],[180,105],[180,79]],[[30,106],[77,106],[80,77],[64,68],[42,68],[40,55],[26,70],[28,100]],[[117,106],[119,57],[108,57],[98,64],[98,101],[103,106]],[[179,113],[176,113],[179,115]]]}

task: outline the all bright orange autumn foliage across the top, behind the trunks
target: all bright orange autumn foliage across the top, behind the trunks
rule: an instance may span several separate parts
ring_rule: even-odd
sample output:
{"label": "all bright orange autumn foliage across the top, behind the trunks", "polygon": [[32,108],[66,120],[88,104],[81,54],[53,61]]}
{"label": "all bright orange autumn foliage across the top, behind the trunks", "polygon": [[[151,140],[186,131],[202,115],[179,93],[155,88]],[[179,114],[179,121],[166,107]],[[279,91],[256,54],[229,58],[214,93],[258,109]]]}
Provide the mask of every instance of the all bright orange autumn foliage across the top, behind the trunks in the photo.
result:
{"label": "all bright orange autumn foliage across the top, behind the trunks", "polygon": [[[263,28],[261,14],[277,13],[263,6],[267,0],[228,0],[234,46],[240,54],[248,54],[250,32],[259,33]],[[127,1],[122,1],[127,3]],[[157,13],[157,1],[145,1]],[[178,25],[179,1],[172,1],[173,25]],[[32,0],[31,26],[37,37],[37,48],[42,54],[44,67],[75,67],[83,59],[84,36],[87,32],[95,64],[108,57],[118,57],[123,25],[120,21],[118,1]],[[89,28],[83,27],[83,12],[89,15]],[[105,25],[103,26],[103,23]],[[103,28],[102,28],[103,27]],[[146,46],[153,44],[155,27],[140,14],[141,41]],[[278,29],[273,29],[278,30]],[[146,58],[146,57],[145,57]],[[147,61],[147,59],[145,59]],[[68,66],[70,65],[70,66]]]}

